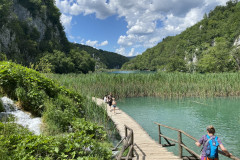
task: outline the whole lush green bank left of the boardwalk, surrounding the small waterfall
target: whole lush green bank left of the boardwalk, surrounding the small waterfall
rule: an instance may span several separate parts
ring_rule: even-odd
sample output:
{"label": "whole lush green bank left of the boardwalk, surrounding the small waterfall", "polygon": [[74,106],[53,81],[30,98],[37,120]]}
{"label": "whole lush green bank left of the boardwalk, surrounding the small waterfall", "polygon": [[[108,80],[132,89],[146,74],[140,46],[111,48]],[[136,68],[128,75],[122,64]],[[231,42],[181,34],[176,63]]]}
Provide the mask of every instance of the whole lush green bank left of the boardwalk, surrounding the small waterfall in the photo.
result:
{"label": "whole lush green bank left of the boardwalk, surrounding the small waterfall", "polygon": [[113,123],[84,95],[34,70],[1,61],[0,95],[44,122],[40,136],[11,121],[0,122],[0,159],[110,159],[106,130],[115,134]]}

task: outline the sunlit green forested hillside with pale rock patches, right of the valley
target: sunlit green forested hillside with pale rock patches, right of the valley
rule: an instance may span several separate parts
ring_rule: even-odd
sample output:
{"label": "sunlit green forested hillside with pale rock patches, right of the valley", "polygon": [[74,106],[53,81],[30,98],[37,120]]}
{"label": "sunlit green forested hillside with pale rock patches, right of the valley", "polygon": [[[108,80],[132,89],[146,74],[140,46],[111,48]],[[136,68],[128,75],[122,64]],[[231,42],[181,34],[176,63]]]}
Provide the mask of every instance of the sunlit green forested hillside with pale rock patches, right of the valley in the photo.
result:
{"label": "sunlit green forested hillside with pale rock patches, right of the valley", "polygon": [[231,0],[205,14],[181,34],[166,37],[124,69],[226,72],[240,69],[240,2]]}

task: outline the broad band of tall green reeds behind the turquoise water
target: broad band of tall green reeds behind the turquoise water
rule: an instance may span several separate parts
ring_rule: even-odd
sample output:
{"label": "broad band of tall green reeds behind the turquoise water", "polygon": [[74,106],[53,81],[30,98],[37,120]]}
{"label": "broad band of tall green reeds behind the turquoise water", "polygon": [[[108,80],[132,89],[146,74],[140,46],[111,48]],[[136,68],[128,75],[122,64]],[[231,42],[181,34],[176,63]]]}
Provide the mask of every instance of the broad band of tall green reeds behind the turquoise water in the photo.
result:
{"label": "broad band of tall green reeds behind the turquoise water", "polygon": [[153,74],[48,74],[62,85],[80,93],[103,97],[112,92],[117,98],[158,96],[216,97],[240,96],[240,73],[153,73]]}

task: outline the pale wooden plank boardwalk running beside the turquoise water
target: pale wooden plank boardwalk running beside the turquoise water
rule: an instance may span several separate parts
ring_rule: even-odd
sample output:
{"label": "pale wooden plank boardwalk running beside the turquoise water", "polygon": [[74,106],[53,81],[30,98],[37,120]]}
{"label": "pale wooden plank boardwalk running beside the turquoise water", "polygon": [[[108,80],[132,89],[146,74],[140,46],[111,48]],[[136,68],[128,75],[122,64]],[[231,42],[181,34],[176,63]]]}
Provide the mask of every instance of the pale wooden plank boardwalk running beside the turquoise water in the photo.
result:
{"label": "pale wooden plank boardwalk running beside the turquoise water", "polygon": [[175,156],[173,153],[167,151],[166,148],[162,147],[156,141],[154,141],[148,133],[130,116],[125,112],[116,108],[116,114],[113,110],[110,111],[109,106],[102,99],[93,98],[93,100],[98,104],[104,104],[108,116],[115,123],[119,134],[123,138],[125,136],[124,125],[127,125],[133,130],[134,133],[134,160],[180,160],[181,158]]}

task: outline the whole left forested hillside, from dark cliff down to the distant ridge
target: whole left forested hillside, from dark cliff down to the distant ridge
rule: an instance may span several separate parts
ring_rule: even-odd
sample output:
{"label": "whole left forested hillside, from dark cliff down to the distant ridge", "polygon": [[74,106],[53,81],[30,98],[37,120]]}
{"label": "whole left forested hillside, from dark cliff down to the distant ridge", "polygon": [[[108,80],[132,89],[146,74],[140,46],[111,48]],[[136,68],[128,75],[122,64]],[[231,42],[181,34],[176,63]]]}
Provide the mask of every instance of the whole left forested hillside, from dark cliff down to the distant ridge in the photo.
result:
{"label": "whole left forested hillside, from dark cliff down to the distant ridge", "polygon": [[54,3],[0,0],[0,60],[55,73],[88,73],[95,65],[97,69],[115,68],[127,62],[116,53],[71,45]]}

